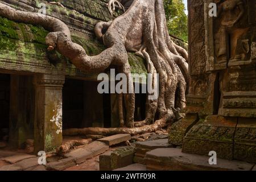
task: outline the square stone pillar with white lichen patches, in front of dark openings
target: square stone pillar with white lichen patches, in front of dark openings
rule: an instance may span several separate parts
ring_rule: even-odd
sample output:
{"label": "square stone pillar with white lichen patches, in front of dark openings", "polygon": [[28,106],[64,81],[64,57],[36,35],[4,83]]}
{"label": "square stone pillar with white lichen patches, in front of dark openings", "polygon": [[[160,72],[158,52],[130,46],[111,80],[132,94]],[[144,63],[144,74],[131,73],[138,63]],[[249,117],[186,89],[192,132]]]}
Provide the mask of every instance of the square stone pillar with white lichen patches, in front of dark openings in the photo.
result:
{"label": "square stone pillar with white lichen patches, in front of dark openings", "polygon": [[62,143],[64,75],[37,75],[35,84],[35,152],[52,151]]}

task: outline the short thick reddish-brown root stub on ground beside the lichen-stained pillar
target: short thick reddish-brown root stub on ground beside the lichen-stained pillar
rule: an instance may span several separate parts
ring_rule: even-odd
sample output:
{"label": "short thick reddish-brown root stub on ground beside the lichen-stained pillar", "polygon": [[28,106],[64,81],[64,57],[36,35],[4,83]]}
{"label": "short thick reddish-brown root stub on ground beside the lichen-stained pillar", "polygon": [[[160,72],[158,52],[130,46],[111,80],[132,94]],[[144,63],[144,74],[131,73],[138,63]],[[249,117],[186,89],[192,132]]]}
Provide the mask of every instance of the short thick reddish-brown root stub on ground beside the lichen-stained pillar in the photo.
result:
{"label": "short thick reddish-brown root stub on ground beside the lichen-stained pillar", "polygon": [[82,139],[82,140],[71,140],[68,141],[66,143],[64,143],[63,145],[61,145],[59,148],[57,148],[56,153],[63,156],[64,154],[66,154],[67,152],[69,152],[70,150],[72,150],[73,148],[77,147],[77,146],[84,146],[86,144],[89,144],[92,141],[92,139]]}

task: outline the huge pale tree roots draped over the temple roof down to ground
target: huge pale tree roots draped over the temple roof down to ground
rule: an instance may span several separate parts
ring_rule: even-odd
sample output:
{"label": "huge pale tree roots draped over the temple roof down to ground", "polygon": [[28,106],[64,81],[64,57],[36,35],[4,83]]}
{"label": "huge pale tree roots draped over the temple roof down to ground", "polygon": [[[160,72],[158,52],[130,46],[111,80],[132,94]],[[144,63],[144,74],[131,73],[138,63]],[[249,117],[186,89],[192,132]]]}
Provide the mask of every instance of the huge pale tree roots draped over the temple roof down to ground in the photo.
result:
{"label": "huge pale tree roots draped over the temple roof down to ground", "polygon": [[[115,3],[117,0],[109,1],[110,6]],[[46,28],[50,31],[46,37],[48,51],[56,49],[82,71],[99,72],[104,71],[110,65],[116,65],[119,73],[125,73],[127,76],[127,88],[134,90],[127,58],[127,51],[131,51],[141,55],[147,61],[147,71],[153,73],[152,85],[155,81],[159,82],[158,97],[151,98],[148,94],[146,101],[144,121],[147,125],[132,128],[134,127],[135,94],[123,93],[121,94],[123,99],[118,100],[120,102],[119,119],[122,125],[124,121],[126,127],[131,129],[72,129],[65,130],[64,134],[152,132],[174,117],[173,108],[183,109],[185,107],[186,81],[188,81],[187,52],[170,39],[163,0],[134,0],[125,14],[113,21],[98,23],[95,29],[96,36],[101,38],[108,48],[96,56],[86,55],[84,48],[73,43],[69,28],[59,19],[18,11],[2,3],[0,3],[0,16],[16,22],[38,24]],[[159,80],[154,73],[159,74]],[[154,123],[156,113],[159,120]]]}

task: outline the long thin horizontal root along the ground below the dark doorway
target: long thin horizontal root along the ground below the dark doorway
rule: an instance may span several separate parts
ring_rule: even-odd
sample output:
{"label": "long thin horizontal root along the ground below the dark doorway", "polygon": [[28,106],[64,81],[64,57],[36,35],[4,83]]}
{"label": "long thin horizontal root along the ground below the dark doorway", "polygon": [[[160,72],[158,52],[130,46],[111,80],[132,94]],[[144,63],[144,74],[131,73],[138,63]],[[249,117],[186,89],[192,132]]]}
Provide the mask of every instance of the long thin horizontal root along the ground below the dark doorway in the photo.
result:
{"label": "long thin horizontal root along the ground below the dark doorway", "polygon": [[64,136],[75,136],[81,135],[85,136],[88,134],[102,134],[105,136],[115,135],[115,134],[130,134],[138,135],[143,133],[154,133],[155,131],[166,127],[168,123],[166,119],[162,118],[158,121],[155,121],[152,125],[145,125],[141,127],[127,128],[127,127],[117,127],[117,128],[102,128],[102,127],[86,127],[84,129],[66,129],[63,130]]}

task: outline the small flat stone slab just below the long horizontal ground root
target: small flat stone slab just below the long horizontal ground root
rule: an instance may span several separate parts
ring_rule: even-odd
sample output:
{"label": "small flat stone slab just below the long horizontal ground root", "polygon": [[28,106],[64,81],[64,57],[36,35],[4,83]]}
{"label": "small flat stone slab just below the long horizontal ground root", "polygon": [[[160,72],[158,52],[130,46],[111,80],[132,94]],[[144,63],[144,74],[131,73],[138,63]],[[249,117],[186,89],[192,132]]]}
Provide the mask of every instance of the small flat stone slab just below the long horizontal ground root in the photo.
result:
{"label": "small flat stone slab just below the long horizontal ground root", "polygon": [[127,140],[131,140],[130,134],[117,134],[117,135],[112,135],[110,137],[98,139],[98,141],[104,142],[104,143],[108,144],[109,146],[113,146],[114,144],[126,142]]}

